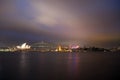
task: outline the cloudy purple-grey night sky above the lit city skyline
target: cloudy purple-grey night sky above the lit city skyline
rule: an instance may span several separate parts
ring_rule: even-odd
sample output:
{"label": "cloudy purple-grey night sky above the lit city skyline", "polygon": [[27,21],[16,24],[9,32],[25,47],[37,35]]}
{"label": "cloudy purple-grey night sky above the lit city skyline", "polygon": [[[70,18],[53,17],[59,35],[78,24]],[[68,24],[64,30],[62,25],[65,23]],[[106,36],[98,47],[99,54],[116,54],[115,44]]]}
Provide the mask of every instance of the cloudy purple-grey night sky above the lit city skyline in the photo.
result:
{"label": "cloudy purple-grey night sky above the lit city skyline", "polygon": [[120,45],[119,0],[0,0],[0,42]]}

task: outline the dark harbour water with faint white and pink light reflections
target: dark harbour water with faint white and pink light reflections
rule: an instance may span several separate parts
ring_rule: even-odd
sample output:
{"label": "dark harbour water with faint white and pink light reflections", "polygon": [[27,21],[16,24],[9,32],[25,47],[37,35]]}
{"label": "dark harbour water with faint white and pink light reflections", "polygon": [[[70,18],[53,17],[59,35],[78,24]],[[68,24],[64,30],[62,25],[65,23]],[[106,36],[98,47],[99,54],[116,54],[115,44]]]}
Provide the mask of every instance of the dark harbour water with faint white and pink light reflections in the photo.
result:
{"label": "dark harbour water with faint white and pink light reflections", "polygon": [[0,53],[0,80],[116,80],[120,53]]}

